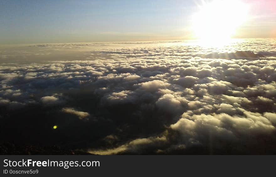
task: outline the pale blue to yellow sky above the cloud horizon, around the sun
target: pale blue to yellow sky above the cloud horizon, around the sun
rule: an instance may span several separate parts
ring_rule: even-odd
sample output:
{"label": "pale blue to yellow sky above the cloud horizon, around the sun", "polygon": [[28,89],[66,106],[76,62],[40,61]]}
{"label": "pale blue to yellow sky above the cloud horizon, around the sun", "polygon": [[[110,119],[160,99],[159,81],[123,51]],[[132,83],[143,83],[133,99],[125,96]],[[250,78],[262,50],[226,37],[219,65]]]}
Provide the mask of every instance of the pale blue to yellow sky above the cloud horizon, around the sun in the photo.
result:
{"label": "pale blue to yellow sky above the cloud horizon, around the sun", "polygon": [[[248,18],[232,37],[276,37],[275,1],[243,3],[249,7]],[[194,39],[192,17],[200,4],[199,0],[1,0],[0,44]]]}

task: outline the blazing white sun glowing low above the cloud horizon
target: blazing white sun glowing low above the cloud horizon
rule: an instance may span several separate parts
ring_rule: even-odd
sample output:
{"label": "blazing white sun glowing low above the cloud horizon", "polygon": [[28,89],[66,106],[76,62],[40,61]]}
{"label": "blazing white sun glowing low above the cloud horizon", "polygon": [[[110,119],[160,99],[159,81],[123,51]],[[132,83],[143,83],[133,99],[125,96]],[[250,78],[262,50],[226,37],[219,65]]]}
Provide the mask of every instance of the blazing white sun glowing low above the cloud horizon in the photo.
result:
{"label": "blazing white sun glowing low above the cloud horizon", "polygon": [[202,1],[193,15],[193,31],[198,39],[230,39],[248,17],[248,5],[238,0]]}

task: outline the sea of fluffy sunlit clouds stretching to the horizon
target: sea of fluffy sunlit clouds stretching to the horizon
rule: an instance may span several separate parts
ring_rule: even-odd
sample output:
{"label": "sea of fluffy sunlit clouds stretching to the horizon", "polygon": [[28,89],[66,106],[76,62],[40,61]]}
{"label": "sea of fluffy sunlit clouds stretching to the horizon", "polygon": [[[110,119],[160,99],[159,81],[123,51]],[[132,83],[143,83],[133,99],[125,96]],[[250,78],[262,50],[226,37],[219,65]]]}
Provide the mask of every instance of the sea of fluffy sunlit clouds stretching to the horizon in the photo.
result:
{"label": "sea of fluffy sunlit clouds stretching to the horizon", "polygon": [[89,52],[75,60],[3,63],[0,118],[6,129],[38,132],[15,141],[63,139],[93,154],[274,154],[273,42],[31,46]]}

